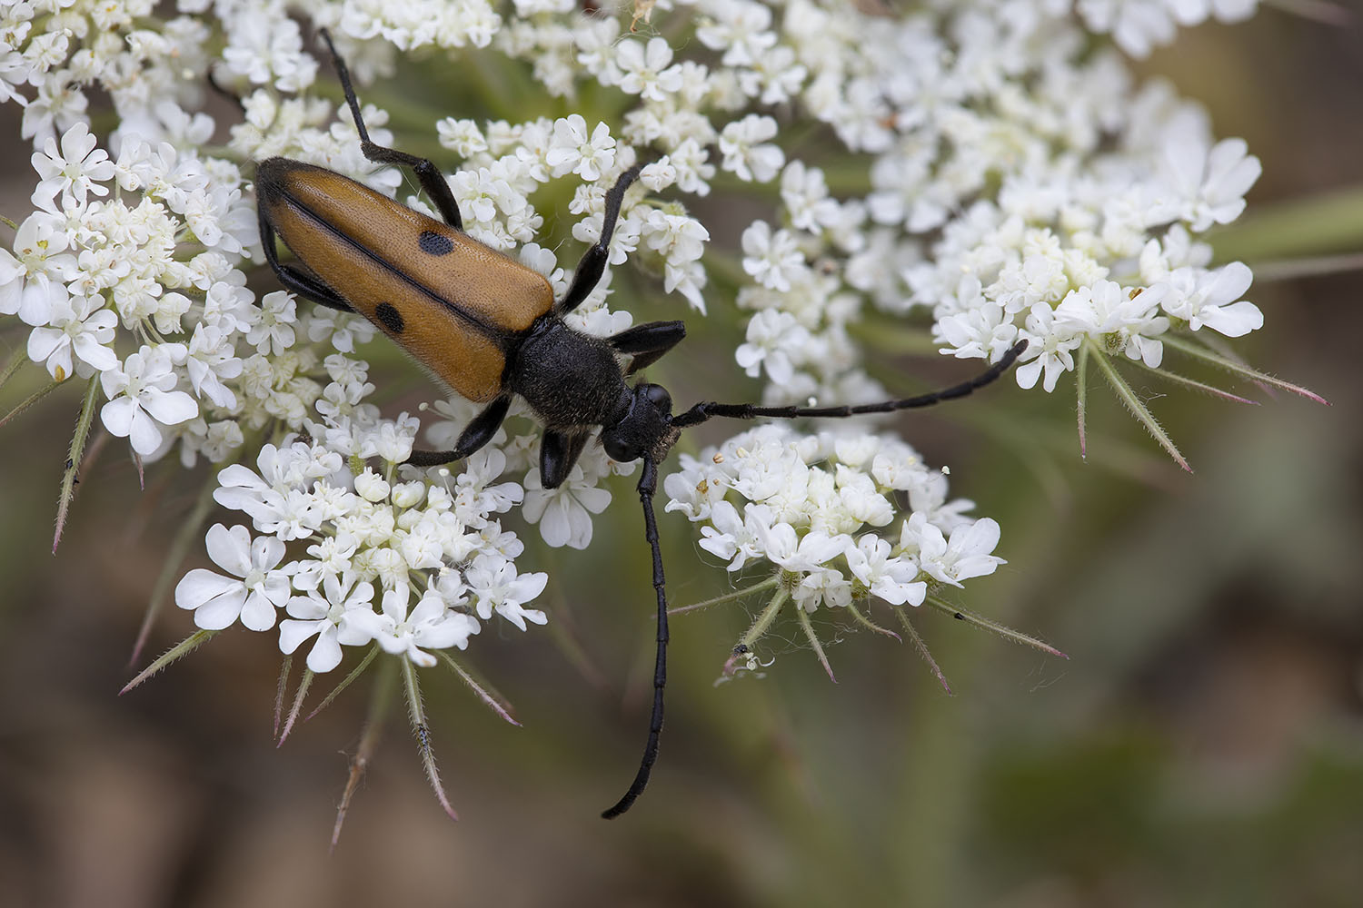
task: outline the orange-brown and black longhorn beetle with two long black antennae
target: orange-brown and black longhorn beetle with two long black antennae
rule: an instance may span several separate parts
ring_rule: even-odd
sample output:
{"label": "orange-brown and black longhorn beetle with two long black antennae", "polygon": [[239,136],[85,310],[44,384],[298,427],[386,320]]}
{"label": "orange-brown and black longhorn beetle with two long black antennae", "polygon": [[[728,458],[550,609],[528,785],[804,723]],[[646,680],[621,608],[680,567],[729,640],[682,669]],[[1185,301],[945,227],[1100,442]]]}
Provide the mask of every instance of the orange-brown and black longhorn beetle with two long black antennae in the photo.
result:
{"label": "orange-brown and black longhorn beetle with two long black antennae", "polygon": [[[619,817],[647,785],[662,730],[668,602],[653,494],[658,464],[680,432],[717,417],[837,418],[927,407],[990,384],[1013,365],[1026,342],[970,381],[916,398],[845,407],[702,402],[673,415],[672,398],[661,385],[639,381],[630,387],[626,378],[686,336],[680,321],[650,321],[602,339],[575,331],[563,320],[587,298],[605,271],[620,201],[639,176],[639,166],[622,173],[607,193],[601,238],[582,256],[567,293],[555,301],[542,275],[463,233],[459,206],[435,163],[369,140],[345,61],[326,30],[322,39],[331,52],[364,157],[379,165],[410,167],[444,223],[331,170],[269,158],[256,165],[260,241],[285,287],[323,306],[363,314],[442,381],[469,400],[487,404],[451,451],[416,451],[408,463],[432,467],[468,457],[496,433],[512,395],[521,395],[544,422],[540,475],[545,489],[567,479],[597,427],[613,460],[643,460],[638,491],[653,554],[657,656],[653,712],[639,771],[624,796],[601,814],[608,820]],[[305,270],[279,261],[275,236]],[[631,357],[628,368],[622,366],[622,355]]]}

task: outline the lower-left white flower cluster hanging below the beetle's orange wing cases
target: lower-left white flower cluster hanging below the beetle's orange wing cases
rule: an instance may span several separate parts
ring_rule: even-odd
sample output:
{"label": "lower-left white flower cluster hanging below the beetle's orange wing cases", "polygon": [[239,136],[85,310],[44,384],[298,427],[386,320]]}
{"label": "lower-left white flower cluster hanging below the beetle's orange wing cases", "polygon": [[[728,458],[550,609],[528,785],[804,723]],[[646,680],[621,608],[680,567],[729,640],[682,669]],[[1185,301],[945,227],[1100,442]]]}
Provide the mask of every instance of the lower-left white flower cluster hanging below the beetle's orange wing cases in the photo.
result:
{"label": "lower-left white flower cluster hanging below the beetle's orange wing cases", "polygon": [[[335,668],[342,647],[371,644],[433,666],[428,651],[466,648],[478,619],[493,614],[522,630],[527,621],[542,625],[544,613],[525,603],[544,591],[548,574],[517,573],[512,560],[523,546],[493,517],[523,496],[515,482],[497,482],[506,456],[483,451],[458,476],[391,481],[414,433],[406,418],[378,426],[386,475],[353,474],[334,449],[304,441],[266,445],[256,470],[225,468],[214,498],[266,535],[252,540],[243,525],[210,528],[209,557],[226,574],[191,570],[176,604],[194,610],[207,630],[237,621],[269,630],[284,610],[279,649],[292,653],[316,637],[307,658],[315,672]],[[285,561],[286,543],[305,547],[305,557]]]}

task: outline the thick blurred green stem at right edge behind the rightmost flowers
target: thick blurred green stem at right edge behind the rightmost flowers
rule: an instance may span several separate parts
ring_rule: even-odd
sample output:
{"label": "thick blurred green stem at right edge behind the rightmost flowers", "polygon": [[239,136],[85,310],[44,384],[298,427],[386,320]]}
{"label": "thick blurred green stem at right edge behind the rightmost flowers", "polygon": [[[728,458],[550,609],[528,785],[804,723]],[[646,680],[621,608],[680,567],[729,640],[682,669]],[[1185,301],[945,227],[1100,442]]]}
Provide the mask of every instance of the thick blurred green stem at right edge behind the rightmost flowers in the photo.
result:
{"label": "thick blurred green stem at right edge behind the rightmost flowers", "polygon": [[1299,259],[1363,249],[1363,185],[1257,206],[1213,237],[1219,261]]}

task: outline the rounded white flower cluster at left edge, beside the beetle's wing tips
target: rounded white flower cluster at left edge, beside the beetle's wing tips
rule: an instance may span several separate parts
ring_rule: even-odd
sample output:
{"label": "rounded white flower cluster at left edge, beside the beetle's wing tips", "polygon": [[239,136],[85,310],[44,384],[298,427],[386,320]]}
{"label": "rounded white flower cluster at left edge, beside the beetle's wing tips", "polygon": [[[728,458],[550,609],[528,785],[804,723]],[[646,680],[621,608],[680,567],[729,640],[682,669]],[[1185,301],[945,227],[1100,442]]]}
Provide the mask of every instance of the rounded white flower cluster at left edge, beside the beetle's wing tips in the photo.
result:
{"label": "rounded white flower cluster at left edge, beside the beetle's wing tips", "polygon": [[110,159],[78,123],[33,165],[38,210],[0,249],[0,314],[33,325],[29,357],[53,380],[98,377],[105,427],[144,460],[180,440],[187,466],[222,461],[244,433],[301,429],[324,391],[308,342],[349,351],[375,334],[282,291],[256,301],[241,271],[256,218],[229,161],[128,133]]}

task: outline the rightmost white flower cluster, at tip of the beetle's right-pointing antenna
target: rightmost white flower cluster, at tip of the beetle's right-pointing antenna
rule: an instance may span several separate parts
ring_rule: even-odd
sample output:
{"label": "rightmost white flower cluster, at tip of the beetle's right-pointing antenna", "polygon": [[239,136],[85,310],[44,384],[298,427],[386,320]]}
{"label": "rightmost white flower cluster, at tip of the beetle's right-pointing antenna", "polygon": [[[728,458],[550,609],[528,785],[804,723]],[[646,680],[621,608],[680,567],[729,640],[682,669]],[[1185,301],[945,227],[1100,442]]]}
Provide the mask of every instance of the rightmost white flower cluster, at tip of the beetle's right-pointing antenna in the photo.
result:
{"label": "rightmost white flower cluster, at tip of the beetle's right-pointing antenna", "polygon": [[1239,338],[1264,325],[1242,298],[1250,270],[1209,268],[1212,248],[1194,240],[1240,214],[1258,159],[1239,139],[1210,146],[1187,110],[1124,128],[1163,152],[1123,148],[1096,154],[1084,174],[1071,159],[1009,176],[996,200],[946,225],[931,261],[906,271],[943,353],[996,361],[1025,339],[1018,384],[1041,378],[1054,391],[1084,344],[1156,369],[1171,329]]}

